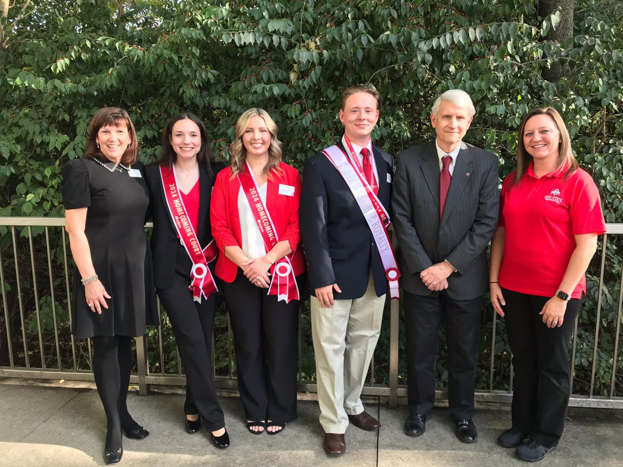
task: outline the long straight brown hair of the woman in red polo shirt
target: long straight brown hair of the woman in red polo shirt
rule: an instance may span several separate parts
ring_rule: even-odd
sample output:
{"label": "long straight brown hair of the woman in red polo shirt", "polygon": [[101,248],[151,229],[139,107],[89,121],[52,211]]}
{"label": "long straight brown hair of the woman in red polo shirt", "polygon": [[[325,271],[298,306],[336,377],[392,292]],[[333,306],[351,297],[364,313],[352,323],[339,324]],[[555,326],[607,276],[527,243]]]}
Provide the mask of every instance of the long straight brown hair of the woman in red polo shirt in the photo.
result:
{"label": "long straight brown hair of the woman in red polo shirt", "polygon": [[558,164],[556,165],[556,170],[564,168],[564,177],[566,178],[573,174],[573,172],[575,172],[579,167],[578,161],[576,161],[573,151],[571,151],[571,137],[569,136],[569,131],[567,130],[566,125],[564,125],[563,117],[560,116],[558,110],[553,107],[535,108],[523,118],[519,130],[517,131],[517,169],[513,185],[520,184],[522,177],[528,170],[528,166],[530,166],[533,161],[532,156],[530,156],[528,151],[526,151],[525,144],[523,144],[523,132],[528,120],[536,115],[549,116],[560,133],[560,142],[558,143]]}

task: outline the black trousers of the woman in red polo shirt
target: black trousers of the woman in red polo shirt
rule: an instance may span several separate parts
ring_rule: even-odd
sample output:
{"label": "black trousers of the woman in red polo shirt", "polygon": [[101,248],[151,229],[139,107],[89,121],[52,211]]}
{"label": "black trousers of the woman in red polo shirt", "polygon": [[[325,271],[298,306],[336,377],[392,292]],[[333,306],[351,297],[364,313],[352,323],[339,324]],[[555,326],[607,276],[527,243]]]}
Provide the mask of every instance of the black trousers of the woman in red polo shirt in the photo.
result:
{"label": "black trousers of the woman in red polo shirt", "polygon": [[571,299],[563,325],[548,328],[539,313],[551,297],[502,289],[506,333],[513,352],[513,428],[546,447],[558,445],[569,404],[569,345],[582,306]]}

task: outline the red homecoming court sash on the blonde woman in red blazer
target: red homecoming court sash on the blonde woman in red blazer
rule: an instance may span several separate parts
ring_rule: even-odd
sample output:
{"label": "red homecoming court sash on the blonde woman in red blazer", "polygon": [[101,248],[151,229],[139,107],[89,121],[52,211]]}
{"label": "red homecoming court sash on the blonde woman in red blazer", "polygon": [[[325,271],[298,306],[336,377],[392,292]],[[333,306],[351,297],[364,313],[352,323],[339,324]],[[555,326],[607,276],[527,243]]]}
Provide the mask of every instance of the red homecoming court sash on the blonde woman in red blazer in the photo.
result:
{"label": "red homecoming court sash on the blonde woman in red blazer", "polygon": [[[237,175],[238,181],[249,203],[251,213],[255,218],[255,225],[257,225],[257,228],[260,230],[262,240],[264,240],[266,252],[269,252],[279,241],[277,231],[275,230],[275,224],[273,224],[272,219],[270,219],[270,214],[264,206],[264,202],[262,202],[259,187],[249,169],[249,163],[244,164],[243,170],[244,173]],[[285,300],[285,303],[288,303],[290,300],[299,299],[297,279],[295,278],[292,263],[290,263],[290,258],[288,257],[292,257],[292,255],[293,252],[290,253],[290,255],[278,259],[272,266],[272,279],[270,280],[269,292],[267,294],[277,295],[277,301]]]}

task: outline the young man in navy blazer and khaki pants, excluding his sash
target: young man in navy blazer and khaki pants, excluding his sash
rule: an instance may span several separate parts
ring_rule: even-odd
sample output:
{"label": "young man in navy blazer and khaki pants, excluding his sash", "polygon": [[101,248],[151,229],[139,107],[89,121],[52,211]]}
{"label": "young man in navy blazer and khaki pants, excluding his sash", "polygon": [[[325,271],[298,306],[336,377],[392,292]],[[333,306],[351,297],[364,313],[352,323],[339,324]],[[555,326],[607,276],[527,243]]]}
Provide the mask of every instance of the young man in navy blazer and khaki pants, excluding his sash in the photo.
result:
{"label": "young man in navy blazer and khaki pants, excluding his sash", "polygon": [[[392,158],[370,139],[380,111],[376,89],[345,90],[340,100],[344,134],[337,148],[325,151],[333,149],[348,158],[389,211]],[[360,395],[379,337],[388,281],[369,223],[345,178],[324,152],[305,164],[300,229],[312,293],[323,446],[329,455],[341,455],[349,421],[363,430],[381,427],[365,412]]]}

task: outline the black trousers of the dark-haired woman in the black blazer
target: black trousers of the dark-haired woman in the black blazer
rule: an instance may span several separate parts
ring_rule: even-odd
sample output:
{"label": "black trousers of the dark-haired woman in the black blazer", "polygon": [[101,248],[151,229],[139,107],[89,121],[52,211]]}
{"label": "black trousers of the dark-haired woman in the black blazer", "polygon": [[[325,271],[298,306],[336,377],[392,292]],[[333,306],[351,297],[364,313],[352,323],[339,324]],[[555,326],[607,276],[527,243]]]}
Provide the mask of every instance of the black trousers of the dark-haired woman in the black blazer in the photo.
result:
{"label": "black trousers of the dark-haired woman in the black blazer", "polygon": [[[193,263],[181,245],[177,248],[173,285],[168,289],[158,289],[156,293],[171,321],[179,357],[186,372],[184,413],[199,413],[206,429],[214,432],[225,426],[210,362],[216,294],[207,300],[202,299],[201,304],[193,301],[193,294],[188,289]],[[216,280],[216,276],[214,278]]]}

